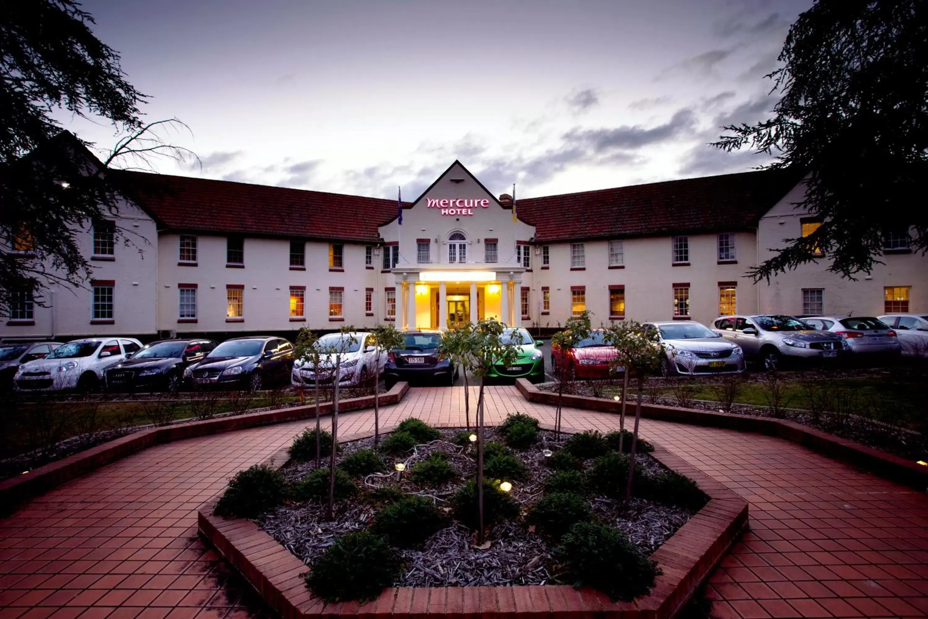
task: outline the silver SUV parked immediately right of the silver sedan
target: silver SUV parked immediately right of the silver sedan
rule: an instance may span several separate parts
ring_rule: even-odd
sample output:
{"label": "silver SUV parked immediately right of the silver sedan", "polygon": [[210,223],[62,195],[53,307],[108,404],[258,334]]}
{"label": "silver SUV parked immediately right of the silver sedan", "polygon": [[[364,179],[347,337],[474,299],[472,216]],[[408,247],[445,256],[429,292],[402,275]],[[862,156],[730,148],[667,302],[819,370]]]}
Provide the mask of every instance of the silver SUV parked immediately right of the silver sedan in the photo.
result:
{"label": "silver SUV parked immediately right of the silver sedan", "polygon": [[836,359],[848,350],[837,333],[817,331],[793,316],[755,314],[722,316],[714,331],[741,347],[744,355],[767,370],[780,369],[784,361]]}

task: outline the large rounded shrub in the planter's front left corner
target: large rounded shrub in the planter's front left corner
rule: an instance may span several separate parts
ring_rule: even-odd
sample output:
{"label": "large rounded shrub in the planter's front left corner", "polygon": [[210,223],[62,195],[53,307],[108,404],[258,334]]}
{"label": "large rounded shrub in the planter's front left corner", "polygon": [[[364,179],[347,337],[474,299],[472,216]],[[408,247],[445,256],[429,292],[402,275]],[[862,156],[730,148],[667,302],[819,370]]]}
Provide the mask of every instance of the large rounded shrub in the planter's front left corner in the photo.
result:
{"label": "large rounded shrub in the planter's front left corner", "polygon": [[399,567],[396,552],[380,535],[349,533],[313,562],[306,586],[329,603],[373,600],[393,584]]}

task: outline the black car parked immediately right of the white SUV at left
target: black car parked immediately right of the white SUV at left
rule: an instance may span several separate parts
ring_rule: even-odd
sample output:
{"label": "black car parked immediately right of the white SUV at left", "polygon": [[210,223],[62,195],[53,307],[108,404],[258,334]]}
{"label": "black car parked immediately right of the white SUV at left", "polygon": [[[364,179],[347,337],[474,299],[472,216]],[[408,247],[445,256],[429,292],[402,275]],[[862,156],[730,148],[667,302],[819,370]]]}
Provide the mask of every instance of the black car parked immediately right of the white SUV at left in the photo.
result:
{"label": "black car parked immediately right of the white SUV at left", "polygon": [[176,392],[184,369],[200,361],[213,348],[212,340],[161,340],[151,342],[104,372],[107,391]]}

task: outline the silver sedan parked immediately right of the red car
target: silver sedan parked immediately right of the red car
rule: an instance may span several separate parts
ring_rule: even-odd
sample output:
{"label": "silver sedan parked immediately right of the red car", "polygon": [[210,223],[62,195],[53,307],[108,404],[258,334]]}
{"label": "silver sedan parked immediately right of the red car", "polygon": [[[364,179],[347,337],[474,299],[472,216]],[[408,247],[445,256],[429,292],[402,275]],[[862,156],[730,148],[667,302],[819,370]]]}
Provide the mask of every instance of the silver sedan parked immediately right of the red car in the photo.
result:
{"label": "silver sedan parked immediately right of the red car", "polygon": [[661,374],[740,374],[747,368],[741,346],[692,321],[646,322],[644,334],[664,347]]}

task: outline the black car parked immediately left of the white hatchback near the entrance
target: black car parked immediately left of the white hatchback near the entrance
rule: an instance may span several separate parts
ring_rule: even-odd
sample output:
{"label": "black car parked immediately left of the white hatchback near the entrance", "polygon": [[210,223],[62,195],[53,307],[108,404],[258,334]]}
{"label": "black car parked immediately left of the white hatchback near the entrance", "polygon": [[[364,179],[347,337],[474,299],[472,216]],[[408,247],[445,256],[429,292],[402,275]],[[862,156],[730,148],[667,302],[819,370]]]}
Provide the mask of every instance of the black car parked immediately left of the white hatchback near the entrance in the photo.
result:
{"label": "black car parked immediately left of the white hatchback near the entrance", "polygon": [[258,391],[272,384],[290,382],[292,367],[293,344],[283,338],[234,338],[189,366],[184,376],[195,387]]}

